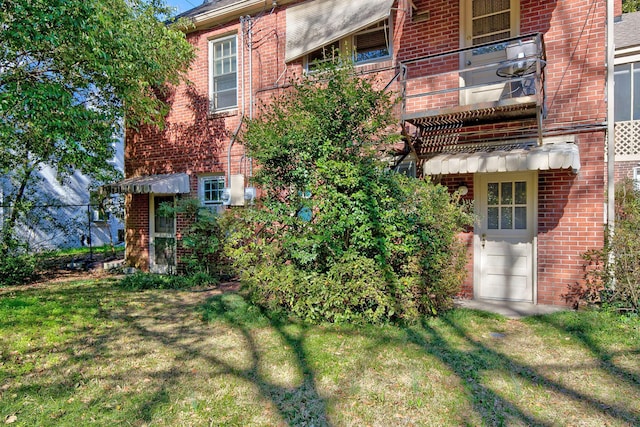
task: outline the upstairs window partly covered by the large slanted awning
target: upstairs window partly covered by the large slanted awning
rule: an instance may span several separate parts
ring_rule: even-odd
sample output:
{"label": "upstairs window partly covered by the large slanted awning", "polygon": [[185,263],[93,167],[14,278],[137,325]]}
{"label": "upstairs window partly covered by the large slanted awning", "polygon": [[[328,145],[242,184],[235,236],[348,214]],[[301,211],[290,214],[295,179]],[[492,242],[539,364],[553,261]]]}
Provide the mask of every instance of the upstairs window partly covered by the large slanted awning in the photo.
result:
{"label": "upstairs window partly covered by the large slanted awning", "polygon": [[378,22],[355,34],[316,49],[306,57],[307,70],[333,61],[339,55],[352,54],[355,64],[387,59],[391,56],[389,20]]}

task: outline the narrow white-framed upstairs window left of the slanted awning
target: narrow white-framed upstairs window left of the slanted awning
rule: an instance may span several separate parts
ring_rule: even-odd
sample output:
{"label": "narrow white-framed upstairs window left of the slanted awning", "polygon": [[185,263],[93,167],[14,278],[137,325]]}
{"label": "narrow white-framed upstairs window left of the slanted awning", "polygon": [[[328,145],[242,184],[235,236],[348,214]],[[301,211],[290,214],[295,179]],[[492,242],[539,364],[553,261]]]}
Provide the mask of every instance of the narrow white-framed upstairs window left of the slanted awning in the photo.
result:
{"label": "narrow white-framed upstairs window left of the slanted awning", "polygon": [[211,111],[238,105],[236,36],[209,41],[209,98]]}

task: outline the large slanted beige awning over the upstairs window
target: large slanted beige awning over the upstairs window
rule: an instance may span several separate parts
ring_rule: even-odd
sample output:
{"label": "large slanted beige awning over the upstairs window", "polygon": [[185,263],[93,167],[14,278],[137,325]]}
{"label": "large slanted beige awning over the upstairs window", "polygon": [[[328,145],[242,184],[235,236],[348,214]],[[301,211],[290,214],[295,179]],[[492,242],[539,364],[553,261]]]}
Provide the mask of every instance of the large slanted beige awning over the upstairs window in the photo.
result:
{"label": "large slanted beige awning over the upstairs window", "polygon": [[287,9],[285,61],[389,17],[394,0],[314,0]]}

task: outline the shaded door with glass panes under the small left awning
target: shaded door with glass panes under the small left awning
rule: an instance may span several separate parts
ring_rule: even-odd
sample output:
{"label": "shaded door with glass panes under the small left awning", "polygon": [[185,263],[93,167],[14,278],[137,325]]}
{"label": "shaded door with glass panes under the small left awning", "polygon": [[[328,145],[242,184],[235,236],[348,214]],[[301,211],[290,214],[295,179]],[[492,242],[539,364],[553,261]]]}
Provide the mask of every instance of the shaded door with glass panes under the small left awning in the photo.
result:
{"label": "shaded door with glass panes under the small left awning", "polygon": [[160,209],[173,206],[173,195],[149,195],[149,270],[152,273],[174,273],[176,268],[176,218]]}

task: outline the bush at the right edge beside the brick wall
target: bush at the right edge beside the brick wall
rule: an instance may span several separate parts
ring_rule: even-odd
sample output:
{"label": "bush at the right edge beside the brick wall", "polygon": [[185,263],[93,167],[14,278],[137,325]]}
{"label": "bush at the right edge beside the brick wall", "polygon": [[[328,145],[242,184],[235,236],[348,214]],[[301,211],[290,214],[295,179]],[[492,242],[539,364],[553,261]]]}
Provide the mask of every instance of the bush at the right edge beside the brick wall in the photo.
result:
{"label": "bush at the right edge beside the brick wall", "polygon": [[585,283],[571,286],[566,297],[575,306],[603,304],[640,313],[640,190],[631,180],[616,184],[613,236],[601,250],[584,255]]}

